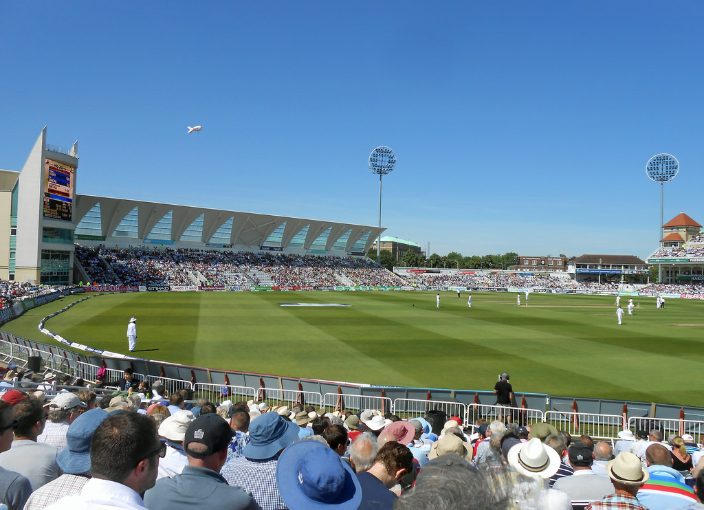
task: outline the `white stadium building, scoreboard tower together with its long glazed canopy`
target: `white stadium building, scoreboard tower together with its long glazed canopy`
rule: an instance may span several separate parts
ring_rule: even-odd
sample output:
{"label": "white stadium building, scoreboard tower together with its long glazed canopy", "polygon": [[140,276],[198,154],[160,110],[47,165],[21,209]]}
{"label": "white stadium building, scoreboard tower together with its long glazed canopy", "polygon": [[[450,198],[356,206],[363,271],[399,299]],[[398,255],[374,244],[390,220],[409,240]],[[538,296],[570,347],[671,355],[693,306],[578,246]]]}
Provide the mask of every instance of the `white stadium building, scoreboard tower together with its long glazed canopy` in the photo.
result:
{"label": "white stadium building, scoreboard tower together with its long glazed canopy", "polygon": [[75,283],[74,242],[127,248],[365,256],[384,227],[75,193],[77,142],[46,144],[20,172],[0,170],[0,279]]}

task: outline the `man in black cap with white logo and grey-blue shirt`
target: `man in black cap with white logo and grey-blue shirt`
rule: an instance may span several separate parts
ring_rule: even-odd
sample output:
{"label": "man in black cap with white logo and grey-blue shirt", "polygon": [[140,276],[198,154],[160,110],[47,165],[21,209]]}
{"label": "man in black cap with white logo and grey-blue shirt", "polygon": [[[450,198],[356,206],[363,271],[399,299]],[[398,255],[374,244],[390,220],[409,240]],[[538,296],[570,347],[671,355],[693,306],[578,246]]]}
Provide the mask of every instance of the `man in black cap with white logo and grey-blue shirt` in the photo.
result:
{"label": "man in black cap with white logo and grey-blue shirt", "polygon": [[217,414],[191,421],[183,440],[188,465],[181,474],[158,480],[146,491],[144,504],[149,510],[191,510],[199,504],[210,510],[260,510],[251,495],[220,476],[233,437],[232,428]]}

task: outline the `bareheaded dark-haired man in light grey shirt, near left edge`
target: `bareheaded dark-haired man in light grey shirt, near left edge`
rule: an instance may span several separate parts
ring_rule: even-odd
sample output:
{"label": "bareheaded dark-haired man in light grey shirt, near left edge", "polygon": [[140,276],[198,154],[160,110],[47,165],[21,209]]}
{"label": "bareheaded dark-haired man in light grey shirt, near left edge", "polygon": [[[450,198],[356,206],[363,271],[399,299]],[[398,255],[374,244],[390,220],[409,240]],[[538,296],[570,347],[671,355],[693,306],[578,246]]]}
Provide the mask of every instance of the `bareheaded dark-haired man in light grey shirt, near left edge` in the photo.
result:
{"label": "bareheaded dark-haired man in light grey shirt, near left edge", "polygon": [[0,466],[22,473],[30,479],[32,490],[37,490],[61,475],[56,463],[58,448],[37,442],[46,421],[41,402],[23,400],[13,407],[13,416],[17,420],[15,440],[10,450],[0,453]]}

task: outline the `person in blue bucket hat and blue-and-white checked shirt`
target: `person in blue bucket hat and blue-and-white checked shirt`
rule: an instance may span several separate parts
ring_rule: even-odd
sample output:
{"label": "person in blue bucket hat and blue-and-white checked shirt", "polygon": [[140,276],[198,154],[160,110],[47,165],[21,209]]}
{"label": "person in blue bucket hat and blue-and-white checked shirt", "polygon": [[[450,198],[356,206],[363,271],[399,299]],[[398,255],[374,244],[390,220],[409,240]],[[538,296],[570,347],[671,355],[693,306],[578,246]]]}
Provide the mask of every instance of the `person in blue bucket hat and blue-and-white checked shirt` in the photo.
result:
{"label": "person in blue bucket hat and blue-and-white checked shirt", "polygon": [[276,466],[284,448],[298,438],[298,426],[277,413],[265,413],[252,421],[249,438],[244,457],[225,464],[222,476],[230,485],[251,492],[264,510],[286,509],[276,485]]}

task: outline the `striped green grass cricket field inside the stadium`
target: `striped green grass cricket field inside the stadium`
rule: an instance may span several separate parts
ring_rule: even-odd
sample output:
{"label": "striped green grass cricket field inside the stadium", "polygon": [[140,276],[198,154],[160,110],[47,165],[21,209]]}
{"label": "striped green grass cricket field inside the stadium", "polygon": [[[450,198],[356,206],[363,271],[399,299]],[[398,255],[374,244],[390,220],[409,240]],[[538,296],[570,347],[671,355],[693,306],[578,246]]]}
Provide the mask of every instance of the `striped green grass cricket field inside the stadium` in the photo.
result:
{"label": "striped green grass cricket field inside the stadium", "polygon": [[[89,299],[46,322],[55,333],[135,355],[281,376],[491,390],[507,371],[515,390],[704,406],[704,303],[634,298],[618,326],[612,296],[515,293],[126,293]],[[5,325],[52,343],[39,319],[72,298]],[[279,303],[347,307],[282,307]],[[628,298],[622,298],[622,305]]]}

